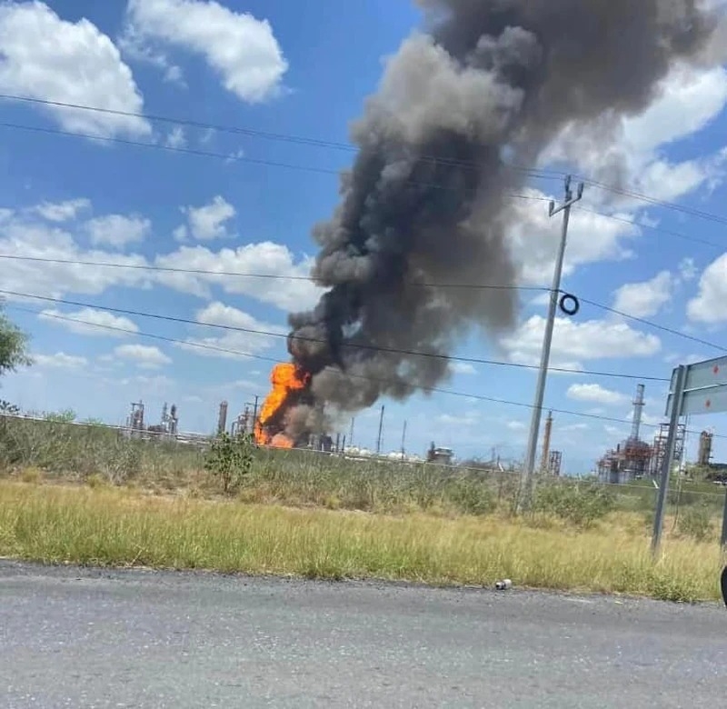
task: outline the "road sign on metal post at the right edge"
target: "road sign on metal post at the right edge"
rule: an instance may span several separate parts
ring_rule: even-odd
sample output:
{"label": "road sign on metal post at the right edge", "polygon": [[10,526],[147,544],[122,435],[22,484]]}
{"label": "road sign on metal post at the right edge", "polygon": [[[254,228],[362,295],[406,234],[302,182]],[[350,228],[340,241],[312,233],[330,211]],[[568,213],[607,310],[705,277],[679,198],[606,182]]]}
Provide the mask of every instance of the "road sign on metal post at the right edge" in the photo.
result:
{"label": "road sign on metal post at the right edge", "polygon": [[[727,357],[707,359],[703,362],[680,365],[674,369],[669,397],[666,402],[666,415],[670,416],[667,451],[662,468],[662,486],[659,490],[659,502],[656,506],[652,550],[656,554],[662,534],[664,500],[671,471],[673,445],[672,432],[680,416],[699,414],[721,414],[727,411]],[[662,499],[663,498],[663,499]],[[727,544],[727,491],[725,491],[724,510],[722,513],[722,547]],[[727,600],[725,601],[727,603]]]}

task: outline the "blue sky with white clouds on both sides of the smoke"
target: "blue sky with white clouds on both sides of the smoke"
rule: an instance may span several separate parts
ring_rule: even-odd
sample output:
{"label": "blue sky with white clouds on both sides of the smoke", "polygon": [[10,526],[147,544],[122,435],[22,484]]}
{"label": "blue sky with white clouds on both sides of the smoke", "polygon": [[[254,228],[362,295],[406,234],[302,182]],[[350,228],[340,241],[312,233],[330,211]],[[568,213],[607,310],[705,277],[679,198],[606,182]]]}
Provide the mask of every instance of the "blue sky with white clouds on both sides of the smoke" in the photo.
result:
{"label": "blue sky with white clouds on both sides of the smoke", "polygon": [[[5,51],[0,93],[347,143],[348,124],[375,91],[383,57],[396,51],[420,19],[413,4],[384,0],[319,0],[305,7],[284,0],[6,2],[0,4]],[[48,33],[55,42],[41,41]],[[677,66],[662,88],[644,115],[622,125],[612,149],[628,157],[630,185],[637,192],[721,215],[727,71],[720,65]],[[0,103],[0,116],[5,124],[156,146],[0,128],[5,138],[0,142],[5,172],[0,255],[284,276],[194,276],[21,258],[5,260],[1,289],[276,335],[286,333],[289,309],[314,303],[313,285],[286,276],[307,274],[315,255],[311,227],[334,209],[335,173],[350,164],[351,151],[11,101]],[[223,157],[164,151],[163,145]],[[309,169],[235,159],[240,156]],[[593,175],[602,157],[603,145],[593,133],[566,132],[549,148],[543,165]],[[508,238],[523,285],[549,285],[560,220],[548,218],[542,198],[560,199],[563,185],[554,178],[527,190],[533,199],[519,201]],[[573,213],[563,287],[725,345],[724,224],[613,197],[587,187],[583,207],[592,211]],[[536,364],[545,306],[535,295],[523,292],[521,325],[512,335],[493,342],[473,333],[455,354]],[[264,397],[267,359],[286,357],[284,336],[224,332],[19,296],[7,301],[7,314],[32,334],[36,364],[7,376],[2,396],[26,409],[73,408],[82,417],[117,423],[139,398],[151,421],[164,401],[175,402],[182,429],[208,432],[222,399],[237,413],[255,394]],[[222,356],[48,315],[267,359]],[[668,379],[677,362],[719,354],[715,347],[583,304],[575,317],[559,319],[552,364]],[[616,419],[555,414],[553,447],[563,451],[567,472],[590,470],[606,448],[628,434],[639,381],[551,375],[547,406]],[[532,371],[456,364],[442,385],[531,404],[534,384]],[[645,384],[645,423],[658,424],[666,384]],[[399,447],[406,420],[407,449],[413,453],[423,454],[436,441],[451,445],[460,457],[487,458],[493,448],[505,459],[523,457],[526,406],[447,394],[380,404],[386,406],[386,450]],[[375,444],[380,404],[357,415],[356,444]],[[689,426],[727,434],[725,421],[723,415],[695,416]],[[341,431],[348,432],[347,420]],[[652,434],[644,427],[645,438]],[[693,449],[695,436],[691,443]],[[715,454],[727,459],[727,445],[718,441]]]}

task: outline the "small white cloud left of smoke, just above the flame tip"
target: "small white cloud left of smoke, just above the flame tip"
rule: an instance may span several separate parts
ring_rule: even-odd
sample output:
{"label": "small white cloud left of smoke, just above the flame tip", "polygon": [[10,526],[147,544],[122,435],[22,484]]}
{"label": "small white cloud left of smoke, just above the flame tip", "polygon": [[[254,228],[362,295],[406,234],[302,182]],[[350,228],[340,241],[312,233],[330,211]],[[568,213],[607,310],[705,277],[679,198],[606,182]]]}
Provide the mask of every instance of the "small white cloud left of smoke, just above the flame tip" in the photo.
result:
{"label": "small white cloud left of smoke, just above the flame tip", "polygon": [[[284,344],[285,340],[282,335],[288,334],[288,328],[260,323],[252,315],[223,303],[211,303],[197,311],[195,320],[198,323],[222,325],[222,327],[215,328],[204,326],[199,328],[204,333],[220,334],[190,337],[184,345],[178,346],[194,354],[208,357],[247,359],[244,354],[257,354],[274,345]],[[225,330],[224,328],[239,329]]]}

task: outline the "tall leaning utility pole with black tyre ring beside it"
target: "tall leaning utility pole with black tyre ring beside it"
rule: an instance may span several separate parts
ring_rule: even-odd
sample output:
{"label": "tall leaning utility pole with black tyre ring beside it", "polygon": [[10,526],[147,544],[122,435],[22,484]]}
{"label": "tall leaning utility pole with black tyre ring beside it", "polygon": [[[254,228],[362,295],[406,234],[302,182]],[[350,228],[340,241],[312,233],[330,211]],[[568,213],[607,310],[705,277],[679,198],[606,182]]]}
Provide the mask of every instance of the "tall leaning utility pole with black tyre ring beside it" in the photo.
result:
{"label": "tall leaning utility pole with black tyre ring beside it", "polygon": [[551,287],[551,300],[548,308],[548,320],[545,323],[545,335],[543,336],[543,353],[541,354],[540,371],[538,382],[535,385],[535,402],[533,404],[533,417],[530,422],[530,435],[528,438],[527,454],[525,454],[523,496],[518,507],[520,511],[530,507],[533,496],[533,474],[535,469],[535,455],[538,449],[538,436],[540,434],[540,419],[543,414],[543,396],[545,394],[545,382],[548,377],[548,366],[551,361],[551,345],[553,344],[553,326],[555,325],[555,314],[558,310],[558,296],[561,293],[561,279],[563,278],[563,261],[565,259],[565,245],[568,241],[568,225],[571,219],[571,207],[583,198],[583,183],[578,185],[578,191],[573,196],[571,190],[571,175],[565,178],[565,200],[563,205],[555,206],[551,202],[549,215],[555,216],[563,212],[563,230],[561,232],[561,245],[558,248],[558,255],[555,259],[555,272],[553,273],[553,286]]}

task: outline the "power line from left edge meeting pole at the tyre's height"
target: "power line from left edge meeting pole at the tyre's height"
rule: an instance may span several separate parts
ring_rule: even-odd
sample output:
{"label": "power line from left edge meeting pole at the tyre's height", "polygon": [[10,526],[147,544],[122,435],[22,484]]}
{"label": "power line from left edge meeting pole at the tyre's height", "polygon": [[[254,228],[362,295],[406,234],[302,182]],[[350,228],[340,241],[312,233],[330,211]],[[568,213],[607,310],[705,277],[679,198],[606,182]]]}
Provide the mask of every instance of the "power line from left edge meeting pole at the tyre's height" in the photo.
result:
{"label": "power line from left edge meeting pole at the tyre's height", "polygon": [[[50,258],[45,256],[23,256],[15,254],[0,254],[0,259],[12,261],[30,261],[42,264],[65,264],[65,265],[93,265],[105,268],[127,268],[129,270],[138,271],[158,271],[162,273],[172,274],[191,274],[191,275],[224,275],[234,276],[238,278],[261,278],[283,281],[311,281],[316,282],[312,275],[287,275],[287,274],[255,274],[243,273],[238,271],[213,271],[204,268],[176,268],[173,266],[145,265],[145,264],[118,264],[109,261],[83,261],[74,258]],[[413,285],[421,288],[463,288],[473,290],[495,290],[495,291],[530,291],[547,293],[549,288],[542,285],[488,285],[488,284],[455,284],[455,283],[417,283],[410,281],[407,285]]]}

